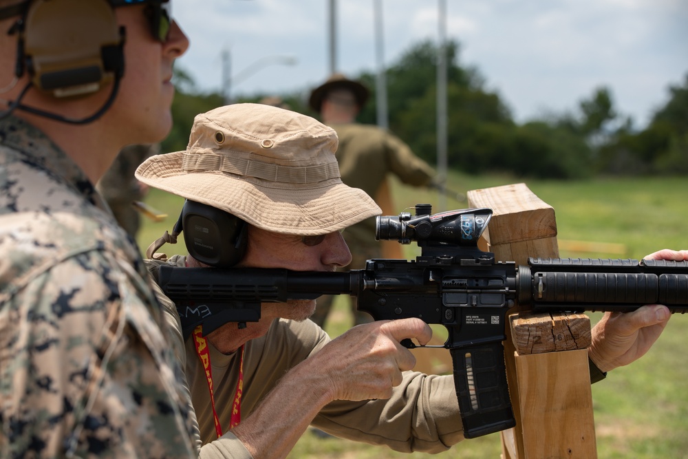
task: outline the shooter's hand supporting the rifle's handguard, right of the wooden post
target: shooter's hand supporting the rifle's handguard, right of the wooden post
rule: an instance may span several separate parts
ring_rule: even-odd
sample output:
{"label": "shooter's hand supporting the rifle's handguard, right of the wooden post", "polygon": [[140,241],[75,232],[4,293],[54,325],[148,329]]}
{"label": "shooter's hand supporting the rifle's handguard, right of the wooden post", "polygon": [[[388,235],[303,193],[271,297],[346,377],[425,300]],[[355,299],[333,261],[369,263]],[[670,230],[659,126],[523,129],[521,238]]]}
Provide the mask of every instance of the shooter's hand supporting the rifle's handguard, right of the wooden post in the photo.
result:
{"label": "shooter's hand supporting the rifle's handguard, right of the wooden post", "polygon": [[[645,259],[688,260],[688,250],[659,250]],[[607,312],[592,328],[590,359],[603,372],[640,359],[652,347],[669,322],[663,305],[648,305],[633,312]]]}

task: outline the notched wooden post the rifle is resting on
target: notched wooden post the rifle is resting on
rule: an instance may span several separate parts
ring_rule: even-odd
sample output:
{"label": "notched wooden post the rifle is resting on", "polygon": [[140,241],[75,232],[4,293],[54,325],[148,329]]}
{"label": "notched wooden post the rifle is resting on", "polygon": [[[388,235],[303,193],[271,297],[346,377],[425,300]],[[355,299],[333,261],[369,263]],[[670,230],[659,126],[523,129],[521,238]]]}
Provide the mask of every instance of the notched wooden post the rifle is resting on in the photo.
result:
{"label": "notched wooden post the rifle is resting on", "polygon": [[[469,191],[468,200],[493,209],[484,246],[495,259],[524,265],[559,256],[554,209],[525,184]],[[502,432],[502,458],[595,459],[590,319],[537,316],[518,305],[512,312],[504,351],[516,427]]]}

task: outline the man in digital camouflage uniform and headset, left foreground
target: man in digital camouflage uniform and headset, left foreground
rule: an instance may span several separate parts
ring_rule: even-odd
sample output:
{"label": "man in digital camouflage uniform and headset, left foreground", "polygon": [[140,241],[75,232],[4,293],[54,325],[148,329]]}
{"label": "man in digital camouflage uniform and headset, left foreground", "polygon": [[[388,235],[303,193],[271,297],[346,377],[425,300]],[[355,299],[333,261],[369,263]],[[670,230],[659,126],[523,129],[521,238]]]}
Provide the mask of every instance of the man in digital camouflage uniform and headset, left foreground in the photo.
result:
{"label": "man in digital camouflage uniform and headset, left foreground", "polygon": [[171,66],[189,45],[160,3],[129,4],[0,1],[3,458],[197,456],[160,304],[94,189],[122,147],[169,131]]}

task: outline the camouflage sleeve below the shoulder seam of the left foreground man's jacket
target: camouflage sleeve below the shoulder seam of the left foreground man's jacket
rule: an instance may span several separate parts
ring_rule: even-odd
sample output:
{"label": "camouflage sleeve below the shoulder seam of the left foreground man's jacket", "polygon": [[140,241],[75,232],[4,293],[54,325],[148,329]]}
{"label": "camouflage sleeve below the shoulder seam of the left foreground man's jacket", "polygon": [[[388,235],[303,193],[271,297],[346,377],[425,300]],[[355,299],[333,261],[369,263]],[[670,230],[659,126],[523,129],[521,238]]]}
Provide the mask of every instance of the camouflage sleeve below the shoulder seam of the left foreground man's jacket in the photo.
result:
{"label": "camouflage sleeve below the shoulder seam of the left foreground man's jacket", "polygon": [[91,251],[0,302],[0,456],[196,456],[180,369],[131,279]]}

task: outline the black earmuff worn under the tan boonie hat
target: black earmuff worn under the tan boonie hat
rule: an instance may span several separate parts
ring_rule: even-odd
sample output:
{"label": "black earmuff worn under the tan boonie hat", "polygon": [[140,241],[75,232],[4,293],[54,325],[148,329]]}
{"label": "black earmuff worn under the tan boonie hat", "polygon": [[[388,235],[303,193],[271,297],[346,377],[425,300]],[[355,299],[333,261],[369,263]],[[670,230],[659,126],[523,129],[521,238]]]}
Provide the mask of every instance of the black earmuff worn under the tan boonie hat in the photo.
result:
{"label": "black earmuff worn under the tan boonie hat", "polygon": [[210,266],[230,268],[246,253],[248,224],[236,215],[200,202],[184,202],[174,231],[184,233],[189,255]]}

